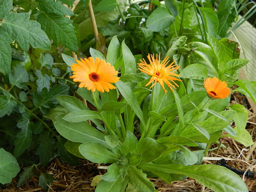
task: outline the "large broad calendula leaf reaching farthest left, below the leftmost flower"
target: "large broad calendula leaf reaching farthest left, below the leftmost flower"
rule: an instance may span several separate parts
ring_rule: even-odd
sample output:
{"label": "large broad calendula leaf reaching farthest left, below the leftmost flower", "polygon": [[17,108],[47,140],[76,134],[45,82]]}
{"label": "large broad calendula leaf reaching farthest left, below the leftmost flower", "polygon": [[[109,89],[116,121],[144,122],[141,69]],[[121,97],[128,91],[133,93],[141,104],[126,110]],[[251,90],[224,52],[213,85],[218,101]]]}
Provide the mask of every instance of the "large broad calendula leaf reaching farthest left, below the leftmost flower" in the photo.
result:
{"label": "large broad calendula leaf reaching farthest left, below the leftmost flower", "polygon": [[59,115],[53,120],[53,124],[57,131],[67,140],[86,143],[95,142],[104,146],[108,146],[104,139],[104,134],[86,122],[70,123],[63,120],[63,116]]}

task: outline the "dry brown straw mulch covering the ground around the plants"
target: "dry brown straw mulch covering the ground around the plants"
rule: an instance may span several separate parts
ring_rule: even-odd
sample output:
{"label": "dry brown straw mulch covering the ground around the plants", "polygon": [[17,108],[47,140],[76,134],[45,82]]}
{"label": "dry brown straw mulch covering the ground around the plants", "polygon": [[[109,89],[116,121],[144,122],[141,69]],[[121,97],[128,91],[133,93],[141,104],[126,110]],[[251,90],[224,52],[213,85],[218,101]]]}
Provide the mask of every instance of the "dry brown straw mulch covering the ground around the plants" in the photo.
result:
{"label": "dry brown straw mulch covering the ground around the plants", "polygon": [[[253,141],[256,140],[256,113],[253,113],[252,109],[244,96],[239,93],[232,93],[232,104],[239,103],[248,107],[248,124],[246,129],[252,135]],[[255,147],[244,147],[240,143],[232,140],[232,138],[221,138],[220,143],[225,145],[227,148],[220,148],[218,144],[214,144],[211,148],[216,148],[209,152],[207,158],[204,159],[203,163],[216,164],[216,157],[227,158],[227,164],[236,168],[238,170],[250,170],[256,171],[256,151]],[[246,160],[248,159],[249,160]],[[45,172],[50,173],[54,177],[54,181],[50,186],[50,191],[95,191],[95,187],[91,186],[93,177],[96,175],[103,175],[106,170],[99,169],[100,164],[90,163],[90,161],[82,160],[77,166],[70,166],[65,163],[61,163],[58,158],[54,159],[49,166],[45,168]],[[44,168],[42,168],[44,169]],[[256,174],[255,174],[256,175]],[[241,175],[248,190],[251,192],[256,192],[256,180],[244,177]],[[23,191],[23,192],[33,192],[33,191],[44,191],[40,186],[38,186],[38,175],[32,177],[29,182],[24,184],[20,188],[16,188],[18,177],[13,179],[11,184],[7,185],[7,189],[0,189],[0,191]],[[166,184],[160,179],[150,179],[154,182],[156,189],[159,192],[193,192],[193,191],[205,191],[210,192],[211,189],[205,188],[196,180],[188,178],[185,180],[172,182],[171,185]],[[147,191],[145,191],[147,192]]]}

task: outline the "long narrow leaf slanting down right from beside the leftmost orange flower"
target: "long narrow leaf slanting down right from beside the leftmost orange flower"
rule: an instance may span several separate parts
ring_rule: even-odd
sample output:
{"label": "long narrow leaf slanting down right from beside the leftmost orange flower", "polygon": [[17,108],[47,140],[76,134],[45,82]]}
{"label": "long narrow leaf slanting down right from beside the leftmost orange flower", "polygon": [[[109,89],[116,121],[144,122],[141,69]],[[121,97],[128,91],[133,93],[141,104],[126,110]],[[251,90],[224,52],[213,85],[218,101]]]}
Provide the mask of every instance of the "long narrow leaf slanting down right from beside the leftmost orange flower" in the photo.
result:
{"label": "long narrow leaf slanting down right from beside the leftmost orange flower", "polygon": [[131,106],[134,113],[140,118],[141,123],[145,125],[143,113],[141,111],[141,108],[138,104],[138,101],[135,97],[135,95],[132,93],[132,90],[129,86],[127,86],[123,81],[116,82],[116,86],[120,93],[123,95],[124,99],[127,101],[127,103]]}

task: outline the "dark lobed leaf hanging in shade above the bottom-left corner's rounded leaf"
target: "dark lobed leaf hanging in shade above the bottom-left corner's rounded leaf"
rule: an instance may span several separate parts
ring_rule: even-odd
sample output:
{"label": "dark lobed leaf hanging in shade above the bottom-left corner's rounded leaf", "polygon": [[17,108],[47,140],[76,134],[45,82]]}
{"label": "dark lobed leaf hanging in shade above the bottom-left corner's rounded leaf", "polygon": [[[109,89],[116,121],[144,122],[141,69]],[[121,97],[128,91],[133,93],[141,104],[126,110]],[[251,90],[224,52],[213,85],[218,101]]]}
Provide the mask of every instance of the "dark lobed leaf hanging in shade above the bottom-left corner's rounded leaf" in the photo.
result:
{"label": "dark lobed leaf hanging in shade above the bottom-left corner's rounded leaf", "polygon": [[31,145],[32,131],[29,126],[29,113],[22,113],[22,119],[17,123],[17,127],[21,130],[18,132],[17,139],[14,142],[13,155],[16,158],[21,156]]}

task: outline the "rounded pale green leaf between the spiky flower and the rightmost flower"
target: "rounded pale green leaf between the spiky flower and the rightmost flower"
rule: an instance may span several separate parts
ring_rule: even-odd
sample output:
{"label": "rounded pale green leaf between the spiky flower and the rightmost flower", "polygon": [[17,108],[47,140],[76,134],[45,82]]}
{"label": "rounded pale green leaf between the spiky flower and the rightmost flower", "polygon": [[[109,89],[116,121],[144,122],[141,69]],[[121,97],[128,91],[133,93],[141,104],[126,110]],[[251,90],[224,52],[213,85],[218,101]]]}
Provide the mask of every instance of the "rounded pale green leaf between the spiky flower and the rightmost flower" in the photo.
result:
{"label": "rounded pale green leaf between the spiky flower and the rightmost flower", "polygon": [[180,78],[204,80],[208,77],[208,70],[204,65],[191,64],[180,72]]}

